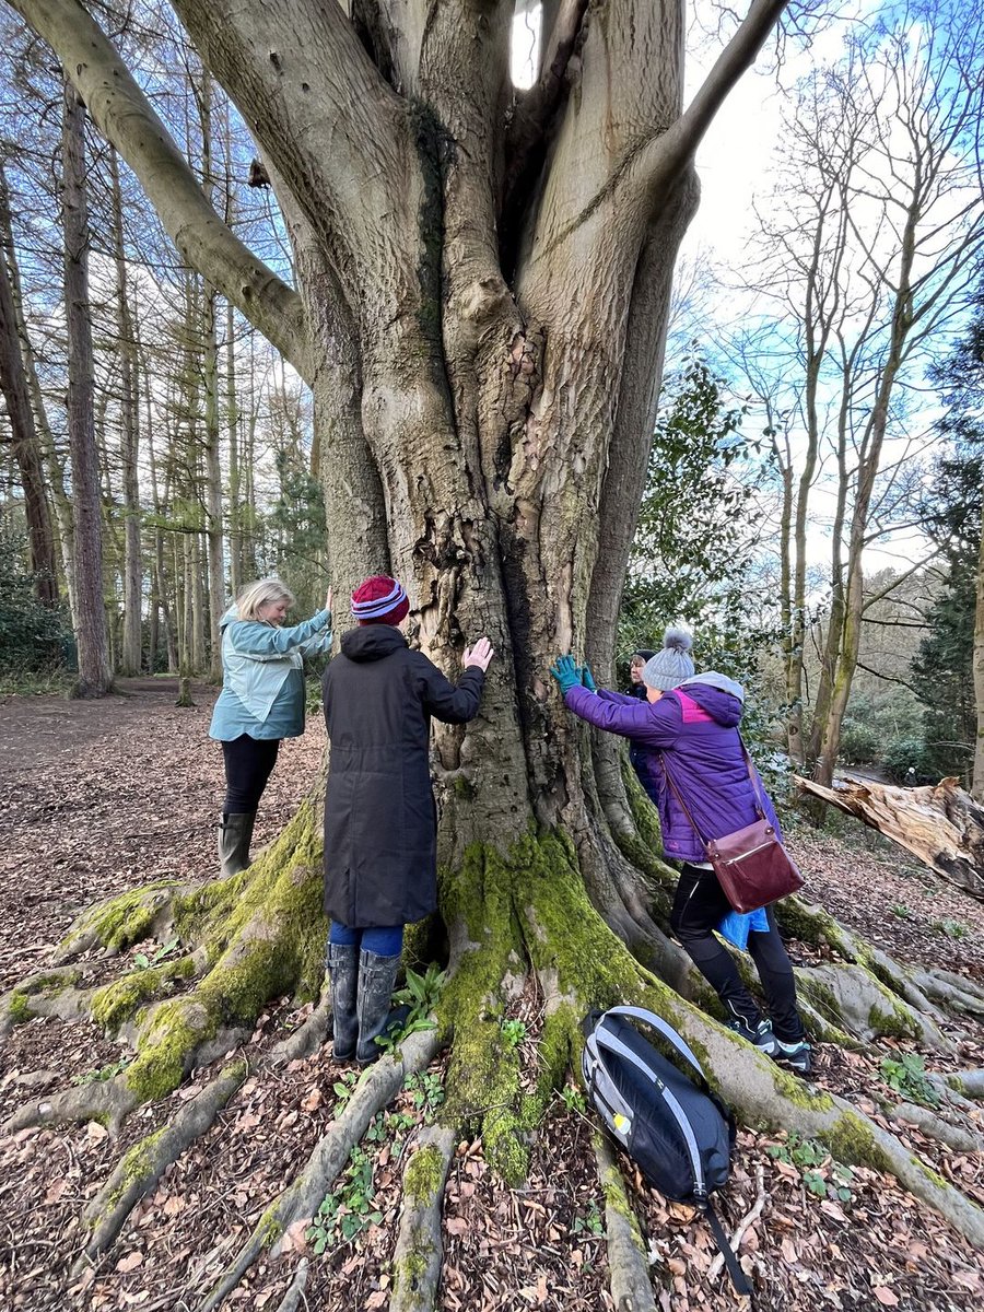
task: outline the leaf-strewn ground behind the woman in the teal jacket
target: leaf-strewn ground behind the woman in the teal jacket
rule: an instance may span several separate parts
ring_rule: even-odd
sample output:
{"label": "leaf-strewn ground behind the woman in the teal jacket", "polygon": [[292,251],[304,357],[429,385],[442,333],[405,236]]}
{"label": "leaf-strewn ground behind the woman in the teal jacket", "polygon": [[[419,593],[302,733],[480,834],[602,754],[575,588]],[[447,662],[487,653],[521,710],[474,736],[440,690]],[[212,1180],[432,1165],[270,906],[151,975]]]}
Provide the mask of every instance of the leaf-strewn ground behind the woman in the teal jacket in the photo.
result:
{"label": "leaf-strewn ground behind the woman in the teal jacket", "polygon": [[[218,689],[121,680],[101,701],[13,697],[0,703],[0,991],[34,970],[89,903],[150,879],[214,869],[222,756],[209,739]],[[257,842],[310,787],[324,750],[311,716],[281,748]]]}

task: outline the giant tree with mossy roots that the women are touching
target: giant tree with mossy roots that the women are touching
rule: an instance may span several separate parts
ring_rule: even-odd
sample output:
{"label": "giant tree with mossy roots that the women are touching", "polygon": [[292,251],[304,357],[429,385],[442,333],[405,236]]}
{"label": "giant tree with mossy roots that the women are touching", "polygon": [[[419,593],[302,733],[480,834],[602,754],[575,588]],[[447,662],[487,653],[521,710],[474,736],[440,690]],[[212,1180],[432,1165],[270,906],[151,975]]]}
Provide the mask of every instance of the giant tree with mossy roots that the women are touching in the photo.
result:
{"label": "giant tree with mossy roots that the women are touching", "polygon": [[[697,202],[694,150],[783,4],[753,0],[684,109],[682,7],[661,0],[547,4],[543,58],[523,94],[509,85],[512,4],[382,0],[353,7],[350,21],[323,0],[177,0],[205,64],[256,133],[298,290],[218,219],[81,5],[17,0],[16,8],[71,70],[189,264],[311,384],[336,597],[369,572],[392,569],[411,593],[421,644],[441,665],[455,669],[463,643],[480,632],[499,652],[479,719],[467,733],[436,739],[450,943],[442,1015],[454,1022],[447,1126],[479,1123],[489,1160],[521,1179],[523,1135],[546,1094],[523,1099],[514,1057],[502,1052],[506,991],[529,980],[542,992],[541,1090],[577,1051],[589,1005],[646,1000],[706,1054],[743,1114],[895,1170],[984,1242],[980,1208],[897,1140],[837,1098],[791,1088],[685,1000],[695,996],[694,979],[665,934],[670,876],[652,854],[646,812],[626,794],[611,744],[568,722],[546,674],[550,659],[569,649],[601,672],[611,668],[673,260]],[[81,1008],[110,1029],[134,1019],[134,1063],[96,1094],[46,1098],[47,1110],[33,1105],[16,1124],[87,1115],[93,1098],[119,1120],[174,1088],[205,1046],[226,1046],[244,1026],[251,1033],[265,998],[318,991],[318,802],[315,792],[237,882],[157,887],[77,922],[63,959],[108,933],[122,946],[178,924],[193,983],[152,1006],[157,983],[165,987],[155,976],[139,991],[136,1017],[125,981],[84,998]],[[892,1033],[926,1035],[930,1025],[935,1033],[937,1006],[925,988],[928,1012],[913,1005],[904,968],[880,966],[876,983],[863,964],[870,958],[833,921],[806,907],[796,914],[800,934],[836,941],[849,958],[837,979],[850,1006],[840,1014],[828,985],[823,993],[837,1026],[863,1015],[871,1036],[884,991],[895,989]],[[31,1006],[28,997],[20,1017]],[[819,1034],[834,1033],[829,1012],[810,1014]],[[434,1048],[433,1034],[411,1035],[403,1061],[426,1061]],[[211,1086],[213,1114],[244,1075],[236,1064]],[[369,1101],[356,1106],[388,1097],[387,1081],[401,1076],[399,1061],[380,1064]],[[361,1132],[354,1119],[345,1126]],[[445,1139],[450,1152],[454,1136]],[[165,1131],[127,1155],[130,1173],[93,1204],[100,1220],[89,1252],[113,1241],[148,1181],[188,1141]],[[273,1236],[311,1215],[327,1164],[346,1152],[348,1141],[336,1140],[315,1152],[207,1307]],[[441,1187],[426,1195],[437,1214]],[[433,1266],[395,1305],[432,1305]]]}

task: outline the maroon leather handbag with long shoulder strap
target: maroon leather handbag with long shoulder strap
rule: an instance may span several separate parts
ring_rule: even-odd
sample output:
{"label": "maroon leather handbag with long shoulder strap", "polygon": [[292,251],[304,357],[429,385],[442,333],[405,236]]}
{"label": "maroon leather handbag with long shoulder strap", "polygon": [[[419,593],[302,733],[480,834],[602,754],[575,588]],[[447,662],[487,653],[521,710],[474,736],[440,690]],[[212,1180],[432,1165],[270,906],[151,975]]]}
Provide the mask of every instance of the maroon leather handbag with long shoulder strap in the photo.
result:
{"label": "maroon leather handbag with long shoulder strap", "polygon": [[745,913],[758,911],[760,907],[768,907],[770,903],[778,901],[779,897],[798,892],[803,887],[803,876],[796,863],[783,848],[782,840],[775,832],[775,825],[765,813],[758,777],[752,766],[752,760],[741,735],[739,735],[739,741],[741,743],[741,752],[748,766],[748,777],[754,790],[758,819],[745,825],[744,829],[735,829],[732,833],[722,834],[720,838],[705,838],[702,836],[694,824],[690,808],[684,802],[680,790],[666,769],[665,757],[660,757],[660,762],[663,773],[666,775],[666,783],[673,790],[673,795],[682,807],[684,815],[690,821],[694,833],[707,853],[707,859],[714,866],[714,872],[718,876],[718,883],[724,890],[724,896],[735,911]]}

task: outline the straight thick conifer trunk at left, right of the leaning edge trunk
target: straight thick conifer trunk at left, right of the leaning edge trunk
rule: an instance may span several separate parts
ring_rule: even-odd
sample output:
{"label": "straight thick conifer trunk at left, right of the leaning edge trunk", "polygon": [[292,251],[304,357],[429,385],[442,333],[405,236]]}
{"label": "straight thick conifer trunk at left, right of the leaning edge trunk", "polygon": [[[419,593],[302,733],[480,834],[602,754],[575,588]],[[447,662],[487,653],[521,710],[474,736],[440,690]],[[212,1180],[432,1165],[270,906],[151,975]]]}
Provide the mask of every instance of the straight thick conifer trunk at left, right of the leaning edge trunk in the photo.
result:
{"label": "straight thick conifer trunk at left, right of the leaning edge trunk", "polygon": [[102,697],[113,686],[102,590],[102,506],[93,411],[89,220],[85,110],[75,87],[64,89],[64,291],[68,327],[68,440],[75,510],[75,596],[79,694]]}

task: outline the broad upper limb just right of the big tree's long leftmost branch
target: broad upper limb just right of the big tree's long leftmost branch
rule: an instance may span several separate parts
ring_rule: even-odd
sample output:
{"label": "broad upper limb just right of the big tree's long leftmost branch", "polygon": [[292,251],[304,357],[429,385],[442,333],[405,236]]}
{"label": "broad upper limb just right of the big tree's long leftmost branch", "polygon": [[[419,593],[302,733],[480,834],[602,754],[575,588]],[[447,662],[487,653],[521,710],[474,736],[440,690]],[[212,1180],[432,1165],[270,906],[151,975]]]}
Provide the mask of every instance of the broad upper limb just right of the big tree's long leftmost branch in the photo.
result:
{"label": "broad upper limb just right of the big tree's long leftmost branch", "polygon": [[365,332],[420,300],[419,125],[338,4],[176,0],[199,54],[329,253]]}

